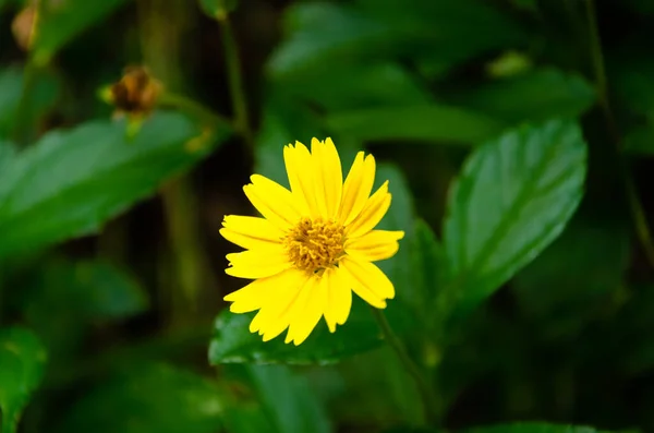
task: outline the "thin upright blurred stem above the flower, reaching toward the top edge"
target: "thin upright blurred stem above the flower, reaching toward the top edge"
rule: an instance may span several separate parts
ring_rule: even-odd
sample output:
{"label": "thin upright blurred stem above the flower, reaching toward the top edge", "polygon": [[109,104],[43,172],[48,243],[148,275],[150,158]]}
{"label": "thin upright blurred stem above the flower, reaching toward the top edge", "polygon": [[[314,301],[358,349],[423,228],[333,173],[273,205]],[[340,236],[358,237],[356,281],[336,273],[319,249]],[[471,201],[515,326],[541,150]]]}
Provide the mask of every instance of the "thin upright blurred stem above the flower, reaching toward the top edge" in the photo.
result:
{"label": "thin upright blurred stem above the flower, reaching toward the top edge", "polygon": [[225,61],[227,62],[227,79],[231,93],[232,109],[234,111],[234,127],[243,136],[247,152],[254,154],[254,135],[250,124],[247,113],[247,97],[243,86],[243,73],[241,59],[239,57],[239,47],[234,37],[234,32],[227,12],[219,13],[216,16],[220,25],[222,46],[225,49]]}

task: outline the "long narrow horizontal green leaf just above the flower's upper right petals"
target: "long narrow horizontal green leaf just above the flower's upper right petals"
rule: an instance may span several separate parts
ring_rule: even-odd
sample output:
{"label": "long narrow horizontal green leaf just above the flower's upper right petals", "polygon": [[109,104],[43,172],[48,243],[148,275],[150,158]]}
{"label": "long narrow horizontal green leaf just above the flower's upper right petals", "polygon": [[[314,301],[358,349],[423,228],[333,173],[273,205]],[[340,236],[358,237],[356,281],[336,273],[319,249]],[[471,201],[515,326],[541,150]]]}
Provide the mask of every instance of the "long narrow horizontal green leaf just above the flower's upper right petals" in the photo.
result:
{"label": "long narrow horizontal green leaf just above the flower's upper right petals", "polygon": [[342,111],[326,119],[340,135],[359,141],[411,140],[471,144],[499,134],[504,124],[484,115],[439,105]]}

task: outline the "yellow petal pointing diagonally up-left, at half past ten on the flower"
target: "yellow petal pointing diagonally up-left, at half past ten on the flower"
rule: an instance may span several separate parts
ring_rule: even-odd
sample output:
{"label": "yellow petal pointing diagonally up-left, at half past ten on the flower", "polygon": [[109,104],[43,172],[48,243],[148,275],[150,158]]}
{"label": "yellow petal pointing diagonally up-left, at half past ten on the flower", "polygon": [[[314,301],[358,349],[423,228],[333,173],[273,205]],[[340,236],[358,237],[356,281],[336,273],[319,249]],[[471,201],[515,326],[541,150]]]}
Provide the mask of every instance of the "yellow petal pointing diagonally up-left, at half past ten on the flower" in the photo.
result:
{"label": "yellow petal pointing diagonally up-left, at half past ten on the flower", "polygon": [[259,175],[253,175],[252,183],[243,191],[254,207],[281,230],[295,225],[301,217],[296,201],[289,190]]}

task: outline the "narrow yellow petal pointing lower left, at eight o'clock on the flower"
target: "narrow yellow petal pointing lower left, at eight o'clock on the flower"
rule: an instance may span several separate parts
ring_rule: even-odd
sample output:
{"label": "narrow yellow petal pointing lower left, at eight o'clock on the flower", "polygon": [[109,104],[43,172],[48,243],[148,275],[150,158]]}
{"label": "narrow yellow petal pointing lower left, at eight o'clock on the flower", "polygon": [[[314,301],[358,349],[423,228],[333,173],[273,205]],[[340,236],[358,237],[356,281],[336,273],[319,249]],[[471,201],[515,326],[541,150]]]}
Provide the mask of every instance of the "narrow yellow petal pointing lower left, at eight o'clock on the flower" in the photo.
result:
{"label": "narrow yellow petal pointing lower left, at eight o'clock on the flower", "polygon": [[283,294],[283,288],[289,286],[289,281],[302,274],[300,270],[291,268],[266,278],[255,279],[247,286],[233,291],[223,299],[231,302],[229,310],[232,313],[249,313],[261,309],[264,305],[275,302],[280,293]]}

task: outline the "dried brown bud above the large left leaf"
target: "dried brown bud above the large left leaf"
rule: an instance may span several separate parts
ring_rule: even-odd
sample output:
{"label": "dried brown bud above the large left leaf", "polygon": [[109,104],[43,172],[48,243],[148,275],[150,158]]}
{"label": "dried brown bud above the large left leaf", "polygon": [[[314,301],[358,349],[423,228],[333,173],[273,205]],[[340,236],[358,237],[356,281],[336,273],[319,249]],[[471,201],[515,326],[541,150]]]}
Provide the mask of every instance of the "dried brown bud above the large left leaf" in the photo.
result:
{"label": "dried brown bud above the large left leaf", "polygon": [[128,67],[120,81],[111,85],[111,103],[119,113],[143,117],[157,105],[161,84],[144,67]]}

